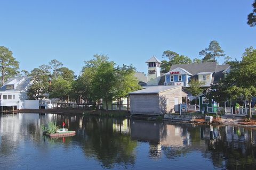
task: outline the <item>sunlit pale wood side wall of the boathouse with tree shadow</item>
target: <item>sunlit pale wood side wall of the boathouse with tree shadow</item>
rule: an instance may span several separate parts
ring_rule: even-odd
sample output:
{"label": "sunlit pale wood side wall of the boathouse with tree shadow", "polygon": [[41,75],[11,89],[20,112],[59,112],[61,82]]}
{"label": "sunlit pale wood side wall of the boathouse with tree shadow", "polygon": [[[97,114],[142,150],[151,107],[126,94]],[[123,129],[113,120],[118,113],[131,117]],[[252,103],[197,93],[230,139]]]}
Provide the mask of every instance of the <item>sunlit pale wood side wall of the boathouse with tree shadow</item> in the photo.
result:
{"label": "sunlit pale wood side wall of the boathouse with tree shadow", "polygon": [[182,102],[182,97],[187,96],[180,88],[170,89],[159,93],[160,113],[172,113],[174,111],[174,98],[178,98],[178,104]]}

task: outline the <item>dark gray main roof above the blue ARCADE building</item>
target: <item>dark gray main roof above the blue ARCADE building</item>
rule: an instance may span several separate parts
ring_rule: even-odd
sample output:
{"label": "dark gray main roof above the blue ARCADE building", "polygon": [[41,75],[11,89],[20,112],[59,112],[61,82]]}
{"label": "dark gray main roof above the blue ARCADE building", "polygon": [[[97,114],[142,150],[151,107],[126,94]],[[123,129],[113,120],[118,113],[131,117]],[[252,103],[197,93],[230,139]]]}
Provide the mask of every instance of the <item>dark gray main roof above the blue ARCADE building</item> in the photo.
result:
{"label": "dark gray main roof above the blue ARCADE building", "polygon": [[201,72],[215,72],[217,62],[190,63],[190,64],[173,64],[170,71],[180,67],[189,73],[195,75]]}

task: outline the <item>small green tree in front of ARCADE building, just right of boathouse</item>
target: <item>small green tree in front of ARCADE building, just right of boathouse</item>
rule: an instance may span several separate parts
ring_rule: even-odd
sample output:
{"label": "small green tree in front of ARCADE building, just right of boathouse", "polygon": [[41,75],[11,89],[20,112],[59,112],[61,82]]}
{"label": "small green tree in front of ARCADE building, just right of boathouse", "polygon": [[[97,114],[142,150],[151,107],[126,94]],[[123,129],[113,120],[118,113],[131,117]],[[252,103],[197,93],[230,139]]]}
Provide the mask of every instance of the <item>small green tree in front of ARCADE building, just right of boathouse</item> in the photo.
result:
{"label": "small green tree in front of ARCADE building, just right of boathouse", "polygon": [[186,89],[193,95],[193,96],[198,96],[203,93],[204,89],[202,86],[205,85],[205,82],[203,81],[198,81],[196,79],[191,79],[188,82],[189,87]]}

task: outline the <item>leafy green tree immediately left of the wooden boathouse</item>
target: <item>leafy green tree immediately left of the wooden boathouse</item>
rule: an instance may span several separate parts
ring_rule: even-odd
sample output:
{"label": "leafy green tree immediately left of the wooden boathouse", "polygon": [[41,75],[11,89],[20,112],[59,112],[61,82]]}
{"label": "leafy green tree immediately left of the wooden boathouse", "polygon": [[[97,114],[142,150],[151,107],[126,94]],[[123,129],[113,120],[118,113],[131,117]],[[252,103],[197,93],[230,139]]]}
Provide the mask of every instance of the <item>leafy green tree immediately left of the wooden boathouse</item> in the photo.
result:
{"label": "leafy green tree immediately left of the wooden boathouse", "polygon": [[[129,92],[141,89],[139,81],[134,77],[135,68],[132,65],[123,65],[123,67],[117,67],[116,69],[116,87],[114,92],[114,98],[119,100],[121,104],[121,98],[128,97]],[[119,105],[119,111],[121,105]]]}

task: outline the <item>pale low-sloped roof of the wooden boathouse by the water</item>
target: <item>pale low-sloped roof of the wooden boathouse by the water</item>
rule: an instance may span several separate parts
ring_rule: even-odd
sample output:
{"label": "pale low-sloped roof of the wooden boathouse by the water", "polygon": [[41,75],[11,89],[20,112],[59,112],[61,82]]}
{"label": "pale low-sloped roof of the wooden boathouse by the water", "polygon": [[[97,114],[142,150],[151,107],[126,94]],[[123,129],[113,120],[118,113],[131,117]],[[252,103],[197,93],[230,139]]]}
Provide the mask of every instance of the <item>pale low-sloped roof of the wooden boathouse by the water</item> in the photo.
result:
{"label": "pale low-sloped roof of the wooden boathouse by the water", "polygon": [[182,86],[153,86],[153,87],[147,87],[142,90],[133,91],[130,92],[130,95],[137,95],[137,94],[159,94],[159,92],[163,92],[166,90],[175,89]]}

